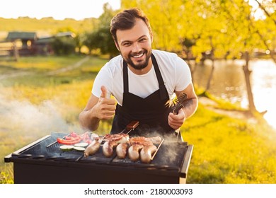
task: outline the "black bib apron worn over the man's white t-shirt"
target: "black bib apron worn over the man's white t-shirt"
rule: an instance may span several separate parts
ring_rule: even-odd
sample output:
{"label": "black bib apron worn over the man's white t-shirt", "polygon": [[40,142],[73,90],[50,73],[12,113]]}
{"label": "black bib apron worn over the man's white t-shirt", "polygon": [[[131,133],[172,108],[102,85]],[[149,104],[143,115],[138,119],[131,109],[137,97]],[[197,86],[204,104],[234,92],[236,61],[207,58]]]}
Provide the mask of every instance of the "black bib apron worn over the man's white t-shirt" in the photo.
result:
{"label": "black bib apron worn over the man's white t-shirt", "polygon": [[151,93],[146,98],[141,98],[129,92],[128,68],[127,63],[123,62],[124,93],[122,106],[117,104],[111,134],[122,132],[127,124],[132,121],[139,121],[138,127],[134,130],[134,133],[139,136],[147,136],[153,132],[159,134],[174,132],[168,125],[168,113],[171,104],[168,91],[153,54],[151,54],[151,60],[159,82],[159,90]]}

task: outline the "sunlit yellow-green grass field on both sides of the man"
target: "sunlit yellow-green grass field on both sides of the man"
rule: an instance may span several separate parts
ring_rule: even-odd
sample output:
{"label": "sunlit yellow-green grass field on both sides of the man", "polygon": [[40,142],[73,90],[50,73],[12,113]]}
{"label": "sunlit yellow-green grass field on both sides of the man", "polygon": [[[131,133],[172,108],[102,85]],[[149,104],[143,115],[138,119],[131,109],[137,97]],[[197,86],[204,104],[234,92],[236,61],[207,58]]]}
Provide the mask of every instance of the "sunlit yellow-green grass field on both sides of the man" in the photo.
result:
{"label": "sunlit yellow-green grass field on both sides of the man", "polygon": [[[0,59],[0,183],[13,183],[4,156],[51,132],[83,132],[79,112],[108,59],[90,57],[74,67],[81,59]],[[103,122],[97,133],[109,129]],[[234,119],[200,103],[181,132],[194,145],[188,183],[276,183],[276,132],[263,119]]]}

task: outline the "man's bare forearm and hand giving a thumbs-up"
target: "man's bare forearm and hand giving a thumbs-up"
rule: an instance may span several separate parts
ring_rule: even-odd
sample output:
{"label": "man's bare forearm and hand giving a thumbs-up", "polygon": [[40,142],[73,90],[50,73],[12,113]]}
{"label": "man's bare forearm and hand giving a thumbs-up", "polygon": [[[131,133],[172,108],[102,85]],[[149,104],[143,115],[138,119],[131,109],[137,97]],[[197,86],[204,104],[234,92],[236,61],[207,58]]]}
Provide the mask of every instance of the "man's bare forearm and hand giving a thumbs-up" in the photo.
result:
{"label": "man's bare forearm and hand giving a thumbs-up", "polygon": [[115,115],[115,100],[106,98],[107,90],[104,86],[101,88],[100,98],[91,94],[84,110],[79,114],[81,127],[94,131],[98,129],[100,120],[108,120]]}

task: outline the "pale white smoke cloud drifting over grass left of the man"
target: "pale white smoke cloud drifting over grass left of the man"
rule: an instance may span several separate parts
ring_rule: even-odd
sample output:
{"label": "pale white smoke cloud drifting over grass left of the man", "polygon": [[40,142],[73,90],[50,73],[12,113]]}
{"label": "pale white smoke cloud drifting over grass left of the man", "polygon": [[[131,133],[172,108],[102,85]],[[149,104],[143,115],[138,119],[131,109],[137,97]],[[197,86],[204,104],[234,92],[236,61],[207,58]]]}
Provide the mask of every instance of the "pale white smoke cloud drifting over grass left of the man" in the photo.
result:
{"label": "pale white smoke cloud drifting over grass left of the man", "polygon": [[52,132],[69,133],[80,130],[79,126],[64,120],[57,101],[45,100],[40,105],[33,105],[28,100],[8,100],[1,93],[0,131],[2,132],[17,136],[39,137]]}

